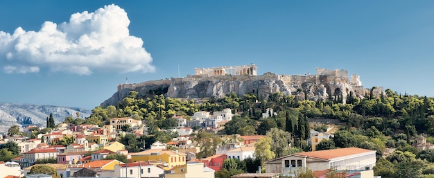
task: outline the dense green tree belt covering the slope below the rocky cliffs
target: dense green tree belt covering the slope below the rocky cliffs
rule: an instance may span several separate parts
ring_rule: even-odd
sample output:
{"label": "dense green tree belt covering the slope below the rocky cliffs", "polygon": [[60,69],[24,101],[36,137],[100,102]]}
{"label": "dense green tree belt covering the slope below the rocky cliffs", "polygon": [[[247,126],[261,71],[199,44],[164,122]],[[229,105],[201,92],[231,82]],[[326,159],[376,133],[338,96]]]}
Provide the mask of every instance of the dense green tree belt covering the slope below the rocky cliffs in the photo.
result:
{"label": "dense green tree belt covering the slope below the rocky cliffs", "polygon": [[[269,155],[277,157],[310,150],[306,144],[309,131],[315,129],[324,132],[328,128],[323,124],[312,125],[310,121],[331,119],[343,127],[334,134],[333,139],[320,142],[318,150],[347,147],[376,150],[379,161],[375,174],[383,177],[405,177],[406,172],[401,168],[406,166],[414,168],[412,171],[420,172],[421,175],[429,175],[430,171],[434,170],[431,159],[433,151],[419,152],[414,146],[422,135],[428,143],[434,142],[433,98],[401,95],[390,89],[386,89],[385,94],[380,96],[368,92],[363,97],[356,97],[350,93],[347,97],[335,95],[315,101],[306,100],[305,96],[302,89],[297,90],[297,95],[284,96],[277,92],[268,98],[255,94],[237,96],[231,93],[223,98],[209,98],[195,103],[193,100],[167,98],[163,95],[143,98],[137,91],[130,91],[130,95],[116,106],[96,107],[85,121],[79,121],[78,118],[68,118],[67,121],[104,125],[114,117],[130,116],[142,120],[150,127],[150,135],[137,138],[127,134],[121,139],[122,143],[128,143],[125,144],[128,145],[128,150],[139,151],[148,148],[153,141],[168,141],[170,136],[173,136],[160,129],[175,127],[177,123],[172,118],[174,115],[189,118],[198,111],[213,112],[230,108],[238,115],[234,116],[219,134],[263,134],[275,139],[289,138],[279,144],[264,140],[264,143],[272,144],[268,148],[272,153],[264,155],[268,159]],[[266,112],[268,108],[273,112]],[[263,117],[263,114],[267,117]],[[216,145],[223,143],[218,139],[219,134],[199,132],[199,157],[214,154]],[[211,140],[216,142],[211,144]],[[383,159],[385,148],[396,148],[397,151],[391,154],[396,157]],[[402,152],[402,155],[398,151]],[[414,154],[415,158],[407,157],[409,153]]]}

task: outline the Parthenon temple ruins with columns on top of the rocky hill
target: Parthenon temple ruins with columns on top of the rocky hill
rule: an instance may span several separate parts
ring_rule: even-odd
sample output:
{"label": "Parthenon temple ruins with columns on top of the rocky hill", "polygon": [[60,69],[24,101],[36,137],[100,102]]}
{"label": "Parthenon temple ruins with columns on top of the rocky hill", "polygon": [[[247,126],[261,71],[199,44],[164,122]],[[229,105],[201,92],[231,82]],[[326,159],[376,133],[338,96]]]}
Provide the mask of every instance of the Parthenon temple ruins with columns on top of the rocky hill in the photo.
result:
{"label": "Parthenon temple ruins with columns on top of the rocky hill", "polygon": [[243,66],[218,66],[211,68],[195,68],[196,75],[257,75],[258,68],[255,64]]}

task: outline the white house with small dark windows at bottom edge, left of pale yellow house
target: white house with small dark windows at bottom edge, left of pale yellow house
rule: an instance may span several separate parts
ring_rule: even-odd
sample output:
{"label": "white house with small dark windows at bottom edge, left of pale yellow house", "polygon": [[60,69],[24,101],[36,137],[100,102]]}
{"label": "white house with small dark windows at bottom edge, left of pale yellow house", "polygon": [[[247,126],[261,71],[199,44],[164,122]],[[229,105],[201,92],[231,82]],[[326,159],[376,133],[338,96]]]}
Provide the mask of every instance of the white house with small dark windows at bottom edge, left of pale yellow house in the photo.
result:
{"label": "white house with small dark windows at bottom edge, left of pale yellow house", "polygon": [[100,172],[99,177],[159,177],[164,169],[144,161],[121,163],[114,166],[113,172]]}

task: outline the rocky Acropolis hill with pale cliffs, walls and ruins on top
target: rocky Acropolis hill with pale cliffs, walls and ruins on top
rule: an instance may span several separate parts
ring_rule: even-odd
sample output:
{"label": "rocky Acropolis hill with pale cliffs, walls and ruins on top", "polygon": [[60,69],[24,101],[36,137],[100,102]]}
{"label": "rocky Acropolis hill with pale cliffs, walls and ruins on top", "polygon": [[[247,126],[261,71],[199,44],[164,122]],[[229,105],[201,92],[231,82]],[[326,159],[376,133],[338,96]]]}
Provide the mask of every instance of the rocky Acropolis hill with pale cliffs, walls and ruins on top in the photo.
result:
{"label": "rocky Acropolis hill with pale cliffs, walls and ruins on top", "polygon": [[[268,98],[270,94],[280,91],[284,95],[294,95],[301,100],[305,94],[309,100],[327,99],[331,96],[342,96],[345,102],[352,92],[353,96],[363,98],[365,89],[358,75],[349,78],[346,70],[316,69],[315,75],[277,75],[264,73],[257,75],[257,66],[223,66],[195,69],[195,75],[185,78],[170,78],[141,83],[119,84],[118,91],[101,106],[116,105],[128,96],[129,91],[138,91],[139,97],[153,97],[164,94],[171,98],[210,98],[224,97],[235,92],[257,94]],[[374,89],[374,96],[379,96],[383,87]]]}

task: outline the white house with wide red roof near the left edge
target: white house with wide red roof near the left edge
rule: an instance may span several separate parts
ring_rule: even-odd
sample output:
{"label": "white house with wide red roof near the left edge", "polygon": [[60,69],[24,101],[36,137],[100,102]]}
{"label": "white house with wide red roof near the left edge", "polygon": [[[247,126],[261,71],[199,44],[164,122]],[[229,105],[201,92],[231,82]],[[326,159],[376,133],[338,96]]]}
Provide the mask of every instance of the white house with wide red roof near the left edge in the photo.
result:
{"label": "white house with wide red roof near the left edge", "polygon": [[54,148],[49,149],[38,149],[33,148],[32,150],[24,153],[24,158],[21,159],[21,165],[26,168],[32,166],[40,159],[56,159],[58,157],[58,150]]}

